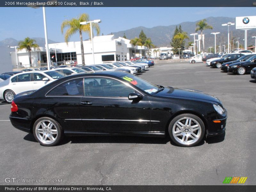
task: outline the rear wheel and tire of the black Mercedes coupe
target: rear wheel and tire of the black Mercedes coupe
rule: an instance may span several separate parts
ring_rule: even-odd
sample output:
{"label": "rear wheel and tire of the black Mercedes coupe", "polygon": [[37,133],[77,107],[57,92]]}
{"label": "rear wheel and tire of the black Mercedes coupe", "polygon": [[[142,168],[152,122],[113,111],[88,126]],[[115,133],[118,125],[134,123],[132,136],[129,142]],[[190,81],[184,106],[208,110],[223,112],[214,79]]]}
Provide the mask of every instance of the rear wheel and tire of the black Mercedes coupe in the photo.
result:
{"label": "rear wheel and tire of the black Mercedes coupe", "polygon": [[57,145],[64,137],[61,125],[50,117],[41,117],[33,126],[36,140],[43,146]]}

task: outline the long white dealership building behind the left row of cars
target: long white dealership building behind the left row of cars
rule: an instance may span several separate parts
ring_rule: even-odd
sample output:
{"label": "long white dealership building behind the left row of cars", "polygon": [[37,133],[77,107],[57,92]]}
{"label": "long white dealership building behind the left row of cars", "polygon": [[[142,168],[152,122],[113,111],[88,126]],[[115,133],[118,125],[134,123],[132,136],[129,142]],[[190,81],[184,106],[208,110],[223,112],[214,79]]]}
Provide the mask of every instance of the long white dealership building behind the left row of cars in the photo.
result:
{"label": "long white dealership building behind the left row of cars", "polygon": [[[84,45],[84,59],[85,65],[93,64],[92,59],[92,42],[91,40],[83,41]],[[67,43],[57,43],[57,44],[48,44],[50,57],[53,58],[52,61],[68,61],[77,60],[77,64],[82,64],[82,55],[81,55],[81,43],[77,42],[68,42]],[[95,64],[100,64],[105,61],[122,61],[130,60],[130,57],[136,56],[145,56],[147,53],[146,46],[136,46],[136,54],[134,54],[134,46],[130,44],[129,39],[119,37],[114,38],[114,35],[106,36],[95,36],[93,37],[93,48],[94,48],[94,60]],[[55,56],[56,51],[56,56]],[[26,49],[17,51],[19,68],[29,67],[29,53]],[[54,57],[53,57],[54,56]],[[13,68],[17,68],[16,54],[15,52],[11,54]],[[38,49],[32,48],[31,50],[31,61],[33,67],[43,66],[42,63],[46,63],[46,49],[44,47],[39,47]]]}

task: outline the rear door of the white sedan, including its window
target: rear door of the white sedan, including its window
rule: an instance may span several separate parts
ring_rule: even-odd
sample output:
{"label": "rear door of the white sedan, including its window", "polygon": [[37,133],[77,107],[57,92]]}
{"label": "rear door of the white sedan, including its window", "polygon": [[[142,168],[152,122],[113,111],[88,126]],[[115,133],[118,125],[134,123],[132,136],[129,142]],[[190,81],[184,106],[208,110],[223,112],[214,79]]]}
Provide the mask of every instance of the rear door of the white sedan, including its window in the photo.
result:
{"label": "rear door of the white sedan, including its window", "polygon": [[24,73],[14,76],[11,79],[10,88],[15,94],[33,90],[33,81],[31,81],[31,73]]}

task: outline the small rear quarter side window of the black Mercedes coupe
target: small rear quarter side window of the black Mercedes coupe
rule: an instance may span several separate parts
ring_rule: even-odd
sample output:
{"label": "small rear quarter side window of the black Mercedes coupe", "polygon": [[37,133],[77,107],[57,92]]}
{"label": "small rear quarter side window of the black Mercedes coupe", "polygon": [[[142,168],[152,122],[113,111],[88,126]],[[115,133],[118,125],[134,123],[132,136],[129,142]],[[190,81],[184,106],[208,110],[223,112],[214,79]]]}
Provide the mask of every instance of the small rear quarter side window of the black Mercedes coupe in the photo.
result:
{"label": "small rear quarter side window of the black Mercedes coupe", "polygon": [[47,94],[48,96],[74,96],[84,95],[84,86],[83,86],[83,79],[74,79],[71,81],[68,81],[66,83],[62,83],[55,87],[51,92]]}

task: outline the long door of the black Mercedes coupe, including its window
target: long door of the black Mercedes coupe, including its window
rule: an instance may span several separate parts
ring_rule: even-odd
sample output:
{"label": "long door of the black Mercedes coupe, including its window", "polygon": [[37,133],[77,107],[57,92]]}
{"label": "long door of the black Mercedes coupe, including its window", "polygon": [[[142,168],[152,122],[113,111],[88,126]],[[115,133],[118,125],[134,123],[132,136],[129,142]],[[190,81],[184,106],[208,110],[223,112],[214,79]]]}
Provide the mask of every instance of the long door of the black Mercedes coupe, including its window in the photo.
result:
{"label": "long door of the black Mercedes coupe, including its window", "polygon": [[149,131],[147,96],[136,102],[129,100],[128,95],[136,90],[108,77],[86,77],[84,87],[79,110],[85,131]]}

